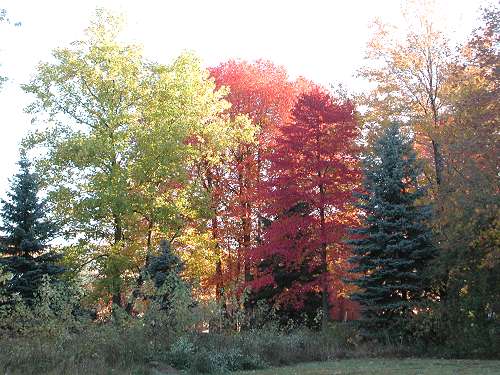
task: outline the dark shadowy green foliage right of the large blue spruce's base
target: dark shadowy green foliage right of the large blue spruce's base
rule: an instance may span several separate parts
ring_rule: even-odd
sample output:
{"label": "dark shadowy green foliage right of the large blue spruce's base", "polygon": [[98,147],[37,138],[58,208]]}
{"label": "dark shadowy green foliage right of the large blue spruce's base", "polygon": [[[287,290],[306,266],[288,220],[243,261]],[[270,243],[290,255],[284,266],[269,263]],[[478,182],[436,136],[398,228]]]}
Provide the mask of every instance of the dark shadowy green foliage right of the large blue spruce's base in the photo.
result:
{"label": "dark shadowy green foliage right of the large blue spruce's base", "polygon": [[491,219],[482,230],[477,221],[469,221],[466,233],[457,225],[448,241],[463,235],[476,239],[451,250],[445,247],[436,259],[434,284],[440,301],[429,304],[411,325],[424,352],[465,358],[494,358],[500,353],[500,229],[498,220]]}

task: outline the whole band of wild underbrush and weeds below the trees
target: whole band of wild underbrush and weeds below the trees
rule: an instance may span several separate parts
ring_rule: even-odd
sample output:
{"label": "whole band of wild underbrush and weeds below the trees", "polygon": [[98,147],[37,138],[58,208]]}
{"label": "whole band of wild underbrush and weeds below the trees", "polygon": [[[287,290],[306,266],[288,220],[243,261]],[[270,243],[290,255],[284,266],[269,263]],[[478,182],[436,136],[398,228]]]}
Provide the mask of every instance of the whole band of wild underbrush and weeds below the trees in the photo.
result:
{"label": "whole band of wild underbrush and weeds below the trees", "polygon": [[[180,291],[173,296],[168,310],[152,301],[144,315],[132,317],[114,306],[104,320],[85,312],[81,296],[64,285],[45,283],[31,306],[4,299],[0,373],[146,375],[168,373],[165,369],[173,367],[185,373],[224,374],[301,362],[426,354],[412,349],[417,345],[364,342],[355,323],[332,323],[322,330],[280,327],[266,311],[264,323],[241,324],[238,317],[241,326],[258,328],[237,332],[235,321],[223,321],[213,306],[193,304]],[[206,332],[206,322],[218,324]]]}

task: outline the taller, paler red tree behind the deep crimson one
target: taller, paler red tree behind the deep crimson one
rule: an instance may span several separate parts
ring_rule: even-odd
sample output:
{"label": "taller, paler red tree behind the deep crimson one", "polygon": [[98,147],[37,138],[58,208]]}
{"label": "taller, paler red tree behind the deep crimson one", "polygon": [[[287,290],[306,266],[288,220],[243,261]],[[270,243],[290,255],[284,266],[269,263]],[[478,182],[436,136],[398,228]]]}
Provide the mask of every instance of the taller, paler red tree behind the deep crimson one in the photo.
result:
{"label": "taller, paler red tree behind the deep crimson one", "polygon": [[230,90],[230,118],[246,115],[252,125],[252,137],[240,137],[226,158],[225,169],[214,174],[221,179],[218,197],[223,197],[215,203],[219,208],[216,225],[212,225],[216,246],[225,258],[225,265],[220,265],[224,268],[219,274],[224,280],[220,285],[241,291],[250,275],[250,264],[245,260],[262,229],[258,189],[266,176],[266,155],[278,125],[290,115],[297,88],[283,67],[264,60],[230,60],[211,68],[210,73],[217,87]]}

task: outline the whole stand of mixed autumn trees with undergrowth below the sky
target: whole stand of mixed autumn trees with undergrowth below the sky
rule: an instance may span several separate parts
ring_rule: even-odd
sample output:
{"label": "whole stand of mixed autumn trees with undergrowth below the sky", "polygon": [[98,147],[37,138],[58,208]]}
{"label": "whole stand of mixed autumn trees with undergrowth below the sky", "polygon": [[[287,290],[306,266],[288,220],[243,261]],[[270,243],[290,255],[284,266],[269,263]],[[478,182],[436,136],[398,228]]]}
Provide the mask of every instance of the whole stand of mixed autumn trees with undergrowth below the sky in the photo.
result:
{"label": "whole stand of mixed autumn trees with undergrowth below the sky", "polygon": [[423,13],[377,23],[370,89],[340,95],[266,60],[149,61],[98,10],[23,85],[5,371],[30,337],[215,373],[341,347],[498,357],[499,17],[458,50]]}

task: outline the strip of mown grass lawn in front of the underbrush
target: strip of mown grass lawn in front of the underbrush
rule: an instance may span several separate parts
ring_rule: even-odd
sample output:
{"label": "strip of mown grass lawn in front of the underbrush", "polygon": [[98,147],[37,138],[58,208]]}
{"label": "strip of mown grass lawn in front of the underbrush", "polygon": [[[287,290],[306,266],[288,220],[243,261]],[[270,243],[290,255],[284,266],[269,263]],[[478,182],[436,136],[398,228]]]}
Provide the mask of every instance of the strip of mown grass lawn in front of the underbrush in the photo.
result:
{"label": "strip of mown grass lawn in front of the underbrush", "polygon": [[349,359],[293,367],[241,371],[238,375],[489,375],[500,374],[500,361],[438,359]]}

